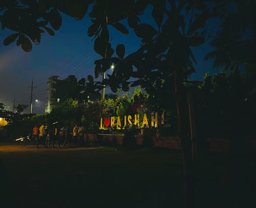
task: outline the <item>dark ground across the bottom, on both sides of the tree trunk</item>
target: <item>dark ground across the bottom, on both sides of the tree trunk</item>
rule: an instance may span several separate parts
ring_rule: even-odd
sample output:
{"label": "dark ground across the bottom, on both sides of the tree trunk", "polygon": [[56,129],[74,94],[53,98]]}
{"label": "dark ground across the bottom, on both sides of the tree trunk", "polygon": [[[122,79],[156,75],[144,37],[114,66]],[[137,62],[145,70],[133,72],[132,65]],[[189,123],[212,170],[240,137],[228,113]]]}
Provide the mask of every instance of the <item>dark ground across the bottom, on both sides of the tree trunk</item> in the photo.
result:
{"label": "dark ground across the bottom, on both sides of the tree trunk", "polygon": [[[0,145],[0,159],[0,207],[183,207],[179,151]],[[254,207],[253,167],[228,164],[219,154],[198,164],[197,207]]]}

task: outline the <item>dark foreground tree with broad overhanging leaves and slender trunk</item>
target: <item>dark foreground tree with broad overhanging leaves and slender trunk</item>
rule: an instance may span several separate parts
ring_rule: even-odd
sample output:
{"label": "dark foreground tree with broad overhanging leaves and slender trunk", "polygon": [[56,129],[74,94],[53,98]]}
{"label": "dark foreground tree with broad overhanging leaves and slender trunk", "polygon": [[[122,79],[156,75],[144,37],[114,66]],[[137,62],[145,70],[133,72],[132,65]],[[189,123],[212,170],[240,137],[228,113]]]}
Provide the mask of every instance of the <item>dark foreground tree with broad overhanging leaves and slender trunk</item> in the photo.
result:
{"label": "dark foreground tree with broad overhanging leaves and slender trunk", "polygon": [[[92,24],[88,35],[93,37],[94,50],[102,57],[95,61],[95,77],[108,70],[112,63],[115,63],[116,67],[113,74],[108,74],[103,83],[93,82],[93,77],[89,76],[89,89],[100,90],[104,84],[116,92],[118,89],[127,91],[130,86],[140,85],[153,96],[158,96],[159,91],[165,90],[165,96],[175,100],[183,153],[185,204],[187,207],[195,207],[195,166],[190,151],[185,84],[189,74],[195,72],[194,65],[197,63],[191,47],[200,46],[211,38],[216,50],[206,58],[214,58],[216,66],[232,69],[244,65],[253,68],[255,1],[1,1],[2,29],[14,31],[5,39],[4,44],[16,41],[17,46],[31,51],[31,41],[39,44],[42,33],[47,32],[54,36],[54,30],[60,29],[61,13],[82,19],[91,4],[89,15]],[[157,28],[140,20],[140,15],[148,5],[153,8],[151,15]],[[206,23],[211,18],[221,21],[221,27],[217,31],[207,30]],[[124,19],[127,20],[127,25],[120,23]],[[126,56],[124,45],[112,48],[110,27],[123,34],[134,30],[141,39],[140,48]],[[117,57],[113,57],[115,52]],[[131,77],[136,81],[131,82]],[[225,99],[221,95],[220,98]]]}

